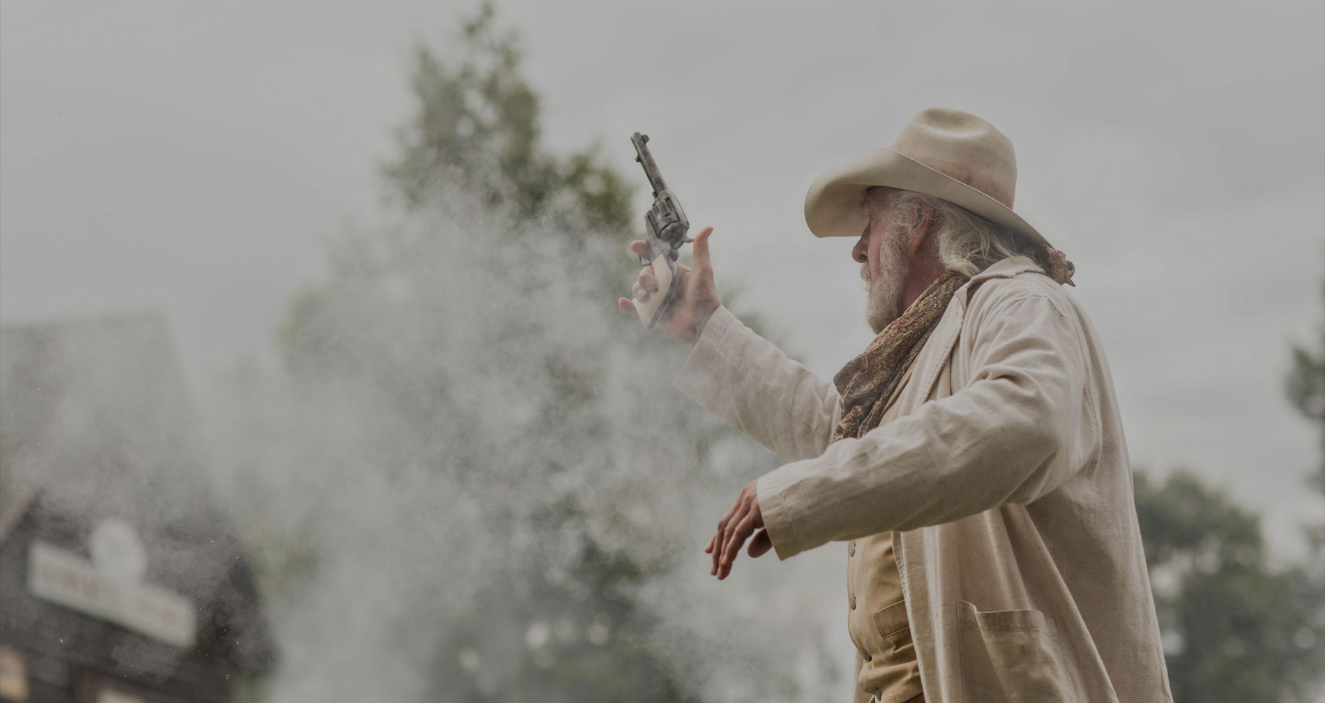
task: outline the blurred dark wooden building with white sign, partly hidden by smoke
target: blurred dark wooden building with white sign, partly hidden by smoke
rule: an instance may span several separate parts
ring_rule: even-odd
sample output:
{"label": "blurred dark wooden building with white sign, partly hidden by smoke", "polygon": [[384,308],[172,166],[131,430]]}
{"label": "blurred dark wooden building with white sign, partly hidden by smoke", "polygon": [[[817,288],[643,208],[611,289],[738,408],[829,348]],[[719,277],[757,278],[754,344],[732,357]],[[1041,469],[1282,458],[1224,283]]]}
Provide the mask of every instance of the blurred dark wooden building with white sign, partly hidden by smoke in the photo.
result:
{"label": "blurred dark wooden building with white sign, partly hidden by smoke", "polygon": [[155,315],[0,330],[0,700],[233,702],[273,646]]}

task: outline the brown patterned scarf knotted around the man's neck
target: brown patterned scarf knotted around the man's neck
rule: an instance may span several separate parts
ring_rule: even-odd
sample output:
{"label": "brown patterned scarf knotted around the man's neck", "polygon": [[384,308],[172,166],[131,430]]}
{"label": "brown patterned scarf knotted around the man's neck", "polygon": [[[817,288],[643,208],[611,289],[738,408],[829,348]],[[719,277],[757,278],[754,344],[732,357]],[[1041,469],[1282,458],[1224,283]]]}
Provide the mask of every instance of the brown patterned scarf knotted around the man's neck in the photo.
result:
{"label": "brown patterned scarf knotted around the man's neck", "polygon": [[[1076,266],[1063,252],[1049,246],[1036,248],[1028,256],[1059,283],[1076,285],[1072,274]],[[906,369],[920,356],[929,335],[947,310],[947,303],[970,277],[946,271],[930,283],[925,293],[865,347],[860,356],[847,363],[832,377],[841,396],[841,420],[833,429],[832,441],[843,437],[864,437],[878,426],[888,408],[888,400],[897,391]]]}

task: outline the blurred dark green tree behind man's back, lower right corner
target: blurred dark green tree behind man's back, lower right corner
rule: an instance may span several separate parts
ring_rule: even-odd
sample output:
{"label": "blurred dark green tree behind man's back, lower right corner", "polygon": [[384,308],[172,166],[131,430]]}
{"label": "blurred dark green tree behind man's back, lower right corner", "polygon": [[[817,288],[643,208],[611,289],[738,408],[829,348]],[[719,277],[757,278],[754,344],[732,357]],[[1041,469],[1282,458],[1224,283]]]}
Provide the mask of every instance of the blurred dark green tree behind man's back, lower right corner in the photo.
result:
{"label": "blurred dark green tree behind man's back, lower right corner", "polygon": [[1309,700],[1325,590],[1269,565],[1259,519],[1189,471],[1136,474],[1137,515],[1178,703]]}

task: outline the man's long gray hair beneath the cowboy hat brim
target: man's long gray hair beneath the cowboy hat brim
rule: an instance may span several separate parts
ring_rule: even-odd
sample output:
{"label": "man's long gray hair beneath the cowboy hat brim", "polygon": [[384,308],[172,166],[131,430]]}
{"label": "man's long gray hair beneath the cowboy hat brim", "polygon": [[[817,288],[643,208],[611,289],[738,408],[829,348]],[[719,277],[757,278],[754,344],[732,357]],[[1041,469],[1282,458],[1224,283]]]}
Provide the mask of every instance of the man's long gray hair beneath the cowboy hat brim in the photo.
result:
{"label": "man's long gray hair beneath the cowboy hat brim", "polygon": [[867,201],[872,208],[889,213],[889,230],[893,236],[910,232],[920,225],[922,204],[934,209],[935,236],[930,246],[937,246],[938,259],[943,267],[963,275],[975,275],[1007,257],[1031,257],[1041,263],[1041,253],[1035,245],[1020,240],[1007,228],[954,205],[946,200],[930,197],[913,191],[897,188],[877,188],[876,196],[871,188]]}

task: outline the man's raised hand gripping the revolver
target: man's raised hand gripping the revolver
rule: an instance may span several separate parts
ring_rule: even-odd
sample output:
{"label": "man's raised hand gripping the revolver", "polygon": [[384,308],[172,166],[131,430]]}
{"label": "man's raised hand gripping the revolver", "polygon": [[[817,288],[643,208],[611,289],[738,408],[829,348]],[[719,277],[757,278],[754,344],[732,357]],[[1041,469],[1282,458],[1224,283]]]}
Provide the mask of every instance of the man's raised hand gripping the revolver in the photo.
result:
{"label": "man's raised hand gripping the revolver", "polygon": [[[662,310],[659,319],[659,330],[677,342],[694,346],[700,339],[700,332],[709,322],[713,311],[722,305],[718,301],[718,287],[713,283],[713,263],[709,261],[709,236],[713,228],[706,226],[694,236],[694,267],[676,265],[676,291]],[[649,256],[648,242],[636,240],[631,242],[631,252],[640,257]],[[631,294],[636,301],[644,302],[659,291],[657,278],[653,267],[645,266],[640,277],[631,286]],[[635,303],[628,298],[616,301],[616,305],[625,312],[635,315]]]}

